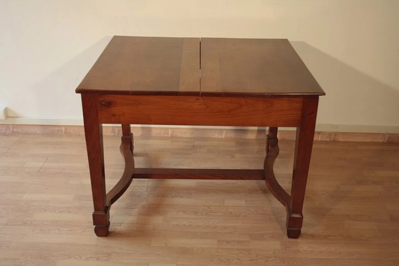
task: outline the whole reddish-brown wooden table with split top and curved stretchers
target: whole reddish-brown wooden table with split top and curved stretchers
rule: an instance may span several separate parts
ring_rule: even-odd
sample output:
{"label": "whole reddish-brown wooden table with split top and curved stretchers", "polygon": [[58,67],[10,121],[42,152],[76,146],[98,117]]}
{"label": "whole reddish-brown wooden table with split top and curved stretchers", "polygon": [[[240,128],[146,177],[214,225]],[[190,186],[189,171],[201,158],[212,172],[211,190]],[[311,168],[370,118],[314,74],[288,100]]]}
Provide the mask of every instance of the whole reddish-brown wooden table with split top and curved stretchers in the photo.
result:
{"label": "whole reddish-brown wooden table with split top and curved stretchers", "polygon": [[[298,238],[318,97],[324,95],[285,39],[114,36],[76,89],[81,93],[97,236],[133,178],[257,179],[287,210]],[[102,124],[121,124],[125,169],[105,191]],[[269,127],[264,169],[134,168],[130,124]],[[291,193],[277,182],[278,127],[296,127]]]}

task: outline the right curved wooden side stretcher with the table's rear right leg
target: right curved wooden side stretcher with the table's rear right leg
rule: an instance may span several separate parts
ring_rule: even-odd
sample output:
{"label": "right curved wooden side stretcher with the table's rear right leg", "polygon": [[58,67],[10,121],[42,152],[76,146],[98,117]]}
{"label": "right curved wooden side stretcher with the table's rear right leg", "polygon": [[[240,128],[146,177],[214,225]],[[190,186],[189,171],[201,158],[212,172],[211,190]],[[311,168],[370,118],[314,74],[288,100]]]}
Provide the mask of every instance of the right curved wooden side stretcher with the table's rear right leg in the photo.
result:
{"label": "right curved wooden side stretcher with the table's rear right leg", "polygon": [[279,155],[279,140],[277,139],[277,127],[270,127],[267,135],[266,158],[264,163],[264,173],[266,185],[269,191],[281,202],[286,208],[290,202],[291,196],[280,186],[276,180],[273,165]]}

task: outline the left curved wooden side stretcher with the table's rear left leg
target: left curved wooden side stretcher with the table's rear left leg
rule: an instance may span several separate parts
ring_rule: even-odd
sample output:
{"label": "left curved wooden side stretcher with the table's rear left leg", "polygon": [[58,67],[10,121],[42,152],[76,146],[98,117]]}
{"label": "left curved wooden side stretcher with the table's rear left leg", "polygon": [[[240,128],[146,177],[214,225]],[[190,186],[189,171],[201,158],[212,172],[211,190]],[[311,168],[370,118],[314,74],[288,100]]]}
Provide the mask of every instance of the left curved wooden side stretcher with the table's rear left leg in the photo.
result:
{"label": "left curved wooden side stretcher with the table's rear left leg", "polygon": [[124,172],[118,183],[107,193],[106,202],[108,208],[123,195],[130,183],[132,183],[134,169],[133,135],[130,132],[128,134],[127,136],[125,134],[122,136],[122,143],[120,143],[120,153],[125,162]]}

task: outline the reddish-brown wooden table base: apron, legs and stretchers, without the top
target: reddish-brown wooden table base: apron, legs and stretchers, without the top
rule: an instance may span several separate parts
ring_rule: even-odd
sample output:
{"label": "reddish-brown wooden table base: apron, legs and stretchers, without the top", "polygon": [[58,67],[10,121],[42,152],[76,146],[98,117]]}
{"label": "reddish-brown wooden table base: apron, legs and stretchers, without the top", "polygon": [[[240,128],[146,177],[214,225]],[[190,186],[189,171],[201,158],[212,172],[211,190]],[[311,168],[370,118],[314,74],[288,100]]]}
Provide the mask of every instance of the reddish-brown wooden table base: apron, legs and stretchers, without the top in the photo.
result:
{"label": "reddish-brown wooden table base: apron, legs and stretchers, without the top", "polygon": [[[284,104],[285,103],[285,104]],[[295,105],[296,103],[296,105]],[[287,209],[287,236],[298,238],[302,228],[302,207],[306,179],[313,145],[318,96],[314,97],[212,97],[212,96],[160,96],[160,95],[97,95],[82,94],[87,153],[91,165],[91,184],[95,211],[93,223],[97,236],[109,234],[109,209],[126,191],[135,176],[139,178],[187,179],[259,179],[256,170],[240,171],[242,177],[230,177],[231,170],[211,169],[147,169],[137,173],[134,168],[133,140],[130,123],[177,125],[272,125],[266,146],[263,179],[271,193]],[[287,117],[295,120],[284,120]],[[274,120],[273,120],[273,119]],[[122,124],[120,151],[125,161],[125,171],[109,193],[105,192],[105,175],[102,140],[99,129],[102,123]],[[296,126],[294,171],[291,194],[277,181],[273,165],[279,154],[277,127]],[[90,135],[93,135],[93,140]],[[155,170],[155,171],[154,171]],[[255,172],[254,172],[255,171]],[[238,173],[238,171],[237,171]],[[138,174],[138,175],[136,175]],[[143,175],[144,174],[144,175]],[[246,175],[246,176],[245,176]]]}

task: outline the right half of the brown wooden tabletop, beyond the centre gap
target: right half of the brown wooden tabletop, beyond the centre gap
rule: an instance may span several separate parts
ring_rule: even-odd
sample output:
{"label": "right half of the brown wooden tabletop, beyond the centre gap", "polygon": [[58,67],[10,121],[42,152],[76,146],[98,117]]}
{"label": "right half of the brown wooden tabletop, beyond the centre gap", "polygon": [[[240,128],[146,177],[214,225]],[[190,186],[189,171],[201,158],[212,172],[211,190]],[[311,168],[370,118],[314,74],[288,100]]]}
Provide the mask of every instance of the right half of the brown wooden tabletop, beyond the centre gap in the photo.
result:
{"label": "right half of the brown wooden tabletop, beyond the centre gap", "polygon": [[286,39],[201,38],[201,95],[324,95]]}

